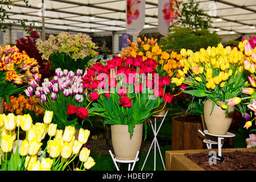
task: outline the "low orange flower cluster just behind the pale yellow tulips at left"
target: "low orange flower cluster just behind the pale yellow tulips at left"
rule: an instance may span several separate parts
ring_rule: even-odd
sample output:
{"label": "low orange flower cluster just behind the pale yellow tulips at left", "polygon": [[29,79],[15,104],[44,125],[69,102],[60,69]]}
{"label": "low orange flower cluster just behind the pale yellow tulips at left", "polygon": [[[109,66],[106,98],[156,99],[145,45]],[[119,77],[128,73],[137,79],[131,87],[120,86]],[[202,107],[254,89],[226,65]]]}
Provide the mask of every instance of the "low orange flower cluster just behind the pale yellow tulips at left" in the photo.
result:
{"label": "low orange flower cluster just behind the pale yellow tulips at left", "polygon": [[27,99],[22,94],[19,94],[19,97],[10,96],[11,103],[7,105],[5,102],[4,109],[7,112],[16,112],[16,115],[22,115],[22,111],[24,110],[35,111],[36,116],[43,114],[43,112],[36,107],[36,104],[40,104],[40,100],[35,96],[33,97],[36,103],[33,101],[32,97]]}

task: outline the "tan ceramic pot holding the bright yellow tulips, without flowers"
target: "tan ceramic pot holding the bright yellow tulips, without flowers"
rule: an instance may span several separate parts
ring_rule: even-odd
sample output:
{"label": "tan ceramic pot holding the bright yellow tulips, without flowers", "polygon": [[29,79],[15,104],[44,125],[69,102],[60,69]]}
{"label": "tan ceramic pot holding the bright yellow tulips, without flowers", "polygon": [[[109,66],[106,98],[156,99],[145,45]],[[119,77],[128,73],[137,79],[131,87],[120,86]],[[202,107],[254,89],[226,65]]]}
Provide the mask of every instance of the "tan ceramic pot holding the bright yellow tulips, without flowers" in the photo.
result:
{"label": "tan ceramic pot holding the bright yellow tulips, without flowers", "polygon": [[[224,102],[219,102],[224,104]],[[214,105],[212,114],[212,101],[207,100],[204,103],[204,121],[209,133],[214,135],[225,135],[231,125],[234,106],[229,106],[228,114],[225,117],[225,110],[221,106]]]}

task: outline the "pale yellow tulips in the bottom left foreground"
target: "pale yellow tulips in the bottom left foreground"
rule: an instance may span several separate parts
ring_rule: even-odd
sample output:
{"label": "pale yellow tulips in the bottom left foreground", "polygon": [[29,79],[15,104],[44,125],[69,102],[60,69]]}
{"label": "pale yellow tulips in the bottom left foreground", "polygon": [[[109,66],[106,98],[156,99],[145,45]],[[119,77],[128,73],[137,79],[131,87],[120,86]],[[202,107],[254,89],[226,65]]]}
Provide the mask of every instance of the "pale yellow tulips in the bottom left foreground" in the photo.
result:
{"label": "pale yellow tulips in the bottom left foreground", "polygon": [[[78,139],[75,139],[75,127],[65,127],[64,133],[63,130],[57,130],[57,125],[51,123],[52,115],[52,111],[46,111],[44,122],[35,125],[29,114],[0,115],[1,171],[64,171],[78,155],[81,165],[76,170],[90,169],[95,165],[93,158],[89,156],[90,150],[83,147],[90,131],[80,129]],[[26,131],[26,138],[23,140],[19,140],[20,127]],[[49,140],[42,151],[42,140],[47,134]]]}

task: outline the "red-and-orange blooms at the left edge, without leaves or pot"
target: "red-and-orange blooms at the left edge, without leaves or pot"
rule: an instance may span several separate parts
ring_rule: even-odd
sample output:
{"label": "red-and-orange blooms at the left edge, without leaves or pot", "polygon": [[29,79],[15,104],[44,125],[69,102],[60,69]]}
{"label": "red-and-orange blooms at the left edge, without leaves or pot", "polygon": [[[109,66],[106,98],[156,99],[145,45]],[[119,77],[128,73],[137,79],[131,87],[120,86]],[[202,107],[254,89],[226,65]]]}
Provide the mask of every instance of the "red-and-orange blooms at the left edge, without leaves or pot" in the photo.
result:
{"label": "red-and-orange blooms at the left edge, without leaves or pot", "polygon": [[23,84],[33,80],[33,74],[41,77],[38,71],[38,61],[30,58],[25,51],[10,44],[0,46],[0,71],[6,71],[5,80],[14,81],[14,84]]}

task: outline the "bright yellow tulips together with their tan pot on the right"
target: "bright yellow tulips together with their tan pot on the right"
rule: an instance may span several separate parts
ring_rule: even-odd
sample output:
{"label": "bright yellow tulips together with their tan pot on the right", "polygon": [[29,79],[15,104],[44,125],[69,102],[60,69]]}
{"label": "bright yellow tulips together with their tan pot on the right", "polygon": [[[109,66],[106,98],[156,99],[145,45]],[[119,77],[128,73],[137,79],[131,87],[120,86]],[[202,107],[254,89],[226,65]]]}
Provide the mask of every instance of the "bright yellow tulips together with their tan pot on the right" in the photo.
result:
{"label": "bright yellow tulips together with their tan pot on the right", "polygon": [[243,53],[237,48],[224,48],[221,43],[195,53],[186,49],[180,52],[185,57],[180,61],[181,77],[172,78],[171,82],[184,82],[191,89],[184,93],[204,97],[204,121],[209,133],[225,135],[234,113],[234,106],[227,100],[241,96],[242,88],[246,87]]}

